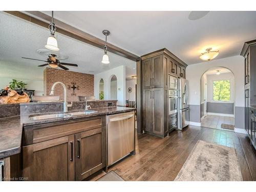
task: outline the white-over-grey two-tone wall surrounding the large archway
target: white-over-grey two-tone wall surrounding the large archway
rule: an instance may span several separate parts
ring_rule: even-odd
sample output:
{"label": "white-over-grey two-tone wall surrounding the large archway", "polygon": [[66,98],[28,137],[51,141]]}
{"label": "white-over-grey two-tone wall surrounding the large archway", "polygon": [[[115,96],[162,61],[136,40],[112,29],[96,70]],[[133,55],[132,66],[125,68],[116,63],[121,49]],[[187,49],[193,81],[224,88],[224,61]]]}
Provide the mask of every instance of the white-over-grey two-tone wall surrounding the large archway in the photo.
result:
{"label": "white-over-grey two-tone wall surrounding the large archway", "polygon": [[189,81],[190,121],[201,122],[201,77],[213,67],[224,67],[234,75],[234,118],[235,127],[244,129],[244,64],[242,56],[200,62],[186,68],[186,79]]}

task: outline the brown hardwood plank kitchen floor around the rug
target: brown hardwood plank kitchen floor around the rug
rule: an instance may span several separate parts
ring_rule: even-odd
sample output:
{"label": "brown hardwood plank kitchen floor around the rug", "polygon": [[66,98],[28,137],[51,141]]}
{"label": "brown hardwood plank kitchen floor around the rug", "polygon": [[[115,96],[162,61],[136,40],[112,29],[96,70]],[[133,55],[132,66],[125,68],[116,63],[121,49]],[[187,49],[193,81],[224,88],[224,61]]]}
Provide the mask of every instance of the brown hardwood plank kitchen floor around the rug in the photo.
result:
{"label": "brown hardwood plank kitchen floor around the rug", "polygon": [[[109,167],[126,181],[173,181],[198,140],[233,147],[244,181],[256,180],[256,154],[244,134],[189,126],[164,139],[143,134],[136,137],[136,155]],[[97,180],[105,173],[89,178]]]}

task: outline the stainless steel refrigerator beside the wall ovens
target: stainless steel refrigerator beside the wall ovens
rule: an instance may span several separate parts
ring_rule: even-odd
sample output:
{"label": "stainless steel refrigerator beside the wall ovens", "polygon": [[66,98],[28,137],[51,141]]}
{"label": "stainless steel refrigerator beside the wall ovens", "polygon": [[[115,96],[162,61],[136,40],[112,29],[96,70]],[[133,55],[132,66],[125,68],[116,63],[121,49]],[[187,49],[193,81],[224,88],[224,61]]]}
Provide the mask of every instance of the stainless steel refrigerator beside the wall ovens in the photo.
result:
{"label": "stainless steel refrigerator beside the wall ovens", "polygon": [[189,124],[188,80],[178,79],[178,130]]}

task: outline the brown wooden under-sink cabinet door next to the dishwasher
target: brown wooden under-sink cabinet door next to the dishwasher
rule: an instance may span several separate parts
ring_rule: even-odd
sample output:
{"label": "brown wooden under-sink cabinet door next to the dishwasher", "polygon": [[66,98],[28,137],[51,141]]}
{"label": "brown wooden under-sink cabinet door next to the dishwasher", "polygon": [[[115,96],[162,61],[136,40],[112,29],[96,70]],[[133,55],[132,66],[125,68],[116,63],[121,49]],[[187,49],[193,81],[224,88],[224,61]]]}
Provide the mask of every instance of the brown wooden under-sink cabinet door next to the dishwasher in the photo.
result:
{"label": "brown wooden under-sink cabinet door next to the dishwasher", "polygon": [[77,181],[105,167],[105,127],[75,134],[75,151],[75,179]]}

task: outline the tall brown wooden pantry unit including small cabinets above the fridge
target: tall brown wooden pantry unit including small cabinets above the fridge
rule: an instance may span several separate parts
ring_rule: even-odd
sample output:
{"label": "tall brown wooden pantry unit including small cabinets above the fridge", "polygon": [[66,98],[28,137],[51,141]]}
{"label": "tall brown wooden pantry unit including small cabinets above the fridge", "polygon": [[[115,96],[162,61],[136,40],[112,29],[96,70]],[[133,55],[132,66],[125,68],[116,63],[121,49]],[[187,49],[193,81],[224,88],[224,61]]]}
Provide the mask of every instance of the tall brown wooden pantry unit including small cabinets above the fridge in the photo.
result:
{"label": "tall brown wooden pantry unit including small cabinets above the fridge", "polygon": [[185,78],[186,64],[161,49],[141,56],[142,59],[142,127],[159,137],[168,134],[168,75]]}

